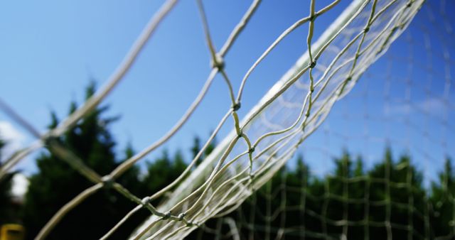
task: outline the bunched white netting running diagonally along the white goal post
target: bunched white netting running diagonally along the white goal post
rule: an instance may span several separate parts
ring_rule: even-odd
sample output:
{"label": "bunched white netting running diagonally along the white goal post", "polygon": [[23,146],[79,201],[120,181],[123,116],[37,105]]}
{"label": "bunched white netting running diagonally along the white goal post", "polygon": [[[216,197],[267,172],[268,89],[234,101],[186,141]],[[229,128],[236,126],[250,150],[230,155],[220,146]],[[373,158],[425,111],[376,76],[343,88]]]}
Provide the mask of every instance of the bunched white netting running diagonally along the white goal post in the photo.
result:
{"label": "bunched white netting running diagonally along the white goal post", "polygon": [[[358,77],[405,29],[419,4],[355,1],[315,44],[311,44],[311,31],[316,18],[309,16],[300,21],[310,24],[309,52],[178,187],[162,209],[184,212],[191,222],[198,223],[238,207],[316,130],[333,103],[349,92]],[[242,138],[247,141],[247,149],[245,144],[236,144]],[[151,217],[144,229],[151,229],[152,238],[180,238],[180,234],[191,231],[185,222],[162,222],[159,217]]]}

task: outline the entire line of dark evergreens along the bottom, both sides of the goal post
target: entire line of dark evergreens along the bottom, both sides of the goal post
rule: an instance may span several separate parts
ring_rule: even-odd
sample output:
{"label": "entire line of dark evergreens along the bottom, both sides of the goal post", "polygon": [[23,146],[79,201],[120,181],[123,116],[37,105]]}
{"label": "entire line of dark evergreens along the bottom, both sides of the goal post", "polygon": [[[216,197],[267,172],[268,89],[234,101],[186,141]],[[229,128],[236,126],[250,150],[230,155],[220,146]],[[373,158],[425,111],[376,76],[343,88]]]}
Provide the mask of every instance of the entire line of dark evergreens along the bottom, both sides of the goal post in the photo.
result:
{"label": "entire line of dark evergreens along the bottom, both sides of the goal post", "polygon": [[[90,84],[85,97],[92,96],[95,84]],[[69,114],[77,109],[70,104]],[[100,175],[108,174],[123,160],[134,155],[129,144],[121,154],[115,151],[117,142],[109,131],[117,116],[107,116],[108,106],[98,107],[78,121],[73,129],[55,139],[73,151],[84,163]],[[49,128],[59,123],[56,114],[50,115]],[[1,134],[1,133],[0,133]],[[1,136],[1,135],[0,135]],[[1,148],[7,143],[0,141]],[[195,138],[190,149],[193,157],[200,150]],[[211,144],[198,163],[213,151]],[[161,156],[146,163],[146,171],[139,167],[127,170],[117,182],[138,197],[145,197],[171,183],[186,168],[189,160],[181,151]],[[450,158],[444,171],[424,187],[422,173],[413,165],[410,156],[392,157],[390,148],[383,159],[371,169],[363,167],[363,159],[355,160],[345,151],[334,159],[330,175],[315,175],[303,158],[298,156],[295,166],[279,170],[272,180],[255,192],[240,209],[228,215],[236,222],[241,239],[419,239],[455,235],[455,174]],[[22,224],[26,239],[33,239],[46,222],[68,201],[90,187],[82,177],[58,156],[42,151],[36,157],[37,172],[30,176],[30,185],[23,203],[11,196],[11,180],[16,172],[0,182],[0,225]],[[160,200],[151,202],[156,205]],[[47,239],[99,239],[124,217],[136,204],[105,188],[70,211]],[[271,216],[264,213],[272,214]],[[149,212],[142,209],[120,227],[112,239],[127,239],[129,234],[146,219]],[[221,222],[221,224],[220,224]],[[343,227],[348,226],[348,227]],[[215,229],[215,230],[214,230]],[[213,232],[229,235],[231,230],[223,219],[210,219],[188,239],[214,239]]]}

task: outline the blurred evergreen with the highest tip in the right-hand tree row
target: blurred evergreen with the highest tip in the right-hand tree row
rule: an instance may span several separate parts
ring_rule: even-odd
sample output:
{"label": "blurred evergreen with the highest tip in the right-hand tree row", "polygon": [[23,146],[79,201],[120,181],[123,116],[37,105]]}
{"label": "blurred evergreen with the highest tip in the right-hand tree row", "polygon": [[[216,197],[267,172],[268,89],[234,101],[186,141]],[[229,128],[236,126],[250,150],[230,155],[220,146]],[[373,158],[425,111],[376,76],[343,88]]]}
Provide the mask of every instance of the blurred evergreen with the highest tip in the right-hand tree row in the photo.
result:
{"label": "blurred evergreen with the highest tip in the right-hand tree row", "polygon": [[[424,236],[424,214],[427,207],[422,173],[411,163],[410,156],[402,155],[393,160],[392,151],[387,148],[382,163],[370,170],[370,202],[378,202],[370,207],[370,219],[376,222],[388,220],[392,224],[413,226],[413,231],[392,228],[392,236],[407,239],[412,234]],[[387,238],[386,228],[372,228],[370,234]],[[411,235],[410,235],[411,234]]]}

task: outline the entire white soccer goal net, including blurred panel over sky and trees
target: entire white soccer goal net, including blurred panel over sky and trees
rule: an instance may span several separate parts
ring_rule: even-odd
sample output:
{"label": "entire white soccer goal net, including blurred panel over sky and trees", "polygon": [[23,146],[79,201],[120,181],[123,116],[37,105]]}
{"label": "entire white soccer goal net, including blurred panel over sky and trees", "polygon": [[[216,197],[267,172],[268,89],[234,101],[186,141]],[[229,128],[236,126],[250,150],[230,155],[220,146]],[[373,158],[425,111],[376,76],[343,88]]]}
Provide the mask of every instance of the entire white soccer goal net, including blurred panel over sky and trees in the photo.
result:
{"label": "entire white soccer goal net, including blurred panel over sky and trees", "polygon": [[[149,210],[150,217],[132,233],[132,239],[183,239],[189,234],[200,239],[454,236],[455,207],[449,180],[441,186],[440,204],[434,206],[429,195],[415,187],[421,176],[411,164],[419,162],[424,189],[429,191],[444,160],[454,156],[454,32],[453,18],[447,13],[455,6],[452,2],[356,0],[321,29],[319,21],[341,1],[322,5],[308,1],[308,11],[283,29],[240,80],[229,77],[225,56],[261,11],[261,1],[252,1],[220,49],[211,38],[204,2],[196,2],[212,67],[203,88],[168,133],[109,175],[88,168],[55,138],[95,109],[122,80],[176,0],[165,1],[154,14],[105,87],[55,129],[41,134],[0,102],[1,109],[38,138],[1,166],[0,178],[45,146],[93,182],[49,219],[37,239],[44,239],[65,214],[103,187],[116,190],[137,207],[102,239],[113,236],[140,209]],[[301,43],[306,46],[304,54],[255,107],[240,114],[250,75],[271,58],[277,45],[301,28],[306,30]],[[186,170],[148,197],[135,196],[116,182],[186,124],[216,76],[225,82],[230,104]],[[195,167],[205,148],[228,125],[232,131]],[[334,164],[332,159],[341,153],[339,146],[354,151],[359,160],[343,153]],[[390,148],[383,153],[387,146]],[[381,159],[383,165],[375,165]],[[290,172],[295,174],[290,177]],[[151,204],[156,199],[161,200],[158,206]],[[453,212],[446,221],[451,230],[441,230],[439,235],[432,221],[438,211],[448,209]]]}

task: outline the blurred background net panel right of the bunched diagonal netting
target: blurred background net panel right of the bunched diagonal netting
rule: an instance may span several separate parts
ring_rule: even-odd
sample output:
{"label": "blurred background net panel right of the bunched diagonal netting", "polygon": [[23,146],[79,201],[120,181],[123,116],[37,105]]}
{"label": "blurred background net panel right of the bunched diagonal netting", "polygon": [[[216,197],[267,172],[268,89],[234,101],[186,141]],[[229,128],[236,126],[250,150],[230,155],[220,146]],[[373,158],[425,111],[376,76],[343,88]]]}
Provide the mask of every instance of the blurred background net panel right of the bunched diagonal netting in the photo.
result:
{"label": "blurred background net panel right of the bunched diagonal netting", "polygon": [[[410,28],[336,104],[302,146],[309,168],[291,160],[297,164],[201,229],[198,239],[453,239],[450,183],[441,182],[444,194],[434,201],[415,187],[423,180],[428,190],[454,156],[454,21],[447,9],[454,3],[424,3]],[[341,154],[340,146],[362,156],[367,168],[382,168],[356,173],[355,156]],[[384,153],[387,146],[392,149]],[[341,172],[333,172],[334,158]],[[299,170],[300,178],[288,175]],[[312,176],[326,182],[318,185]],[[441,231],[441,211],[452,216],[444,222],[449,231]]]}

